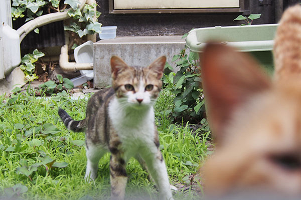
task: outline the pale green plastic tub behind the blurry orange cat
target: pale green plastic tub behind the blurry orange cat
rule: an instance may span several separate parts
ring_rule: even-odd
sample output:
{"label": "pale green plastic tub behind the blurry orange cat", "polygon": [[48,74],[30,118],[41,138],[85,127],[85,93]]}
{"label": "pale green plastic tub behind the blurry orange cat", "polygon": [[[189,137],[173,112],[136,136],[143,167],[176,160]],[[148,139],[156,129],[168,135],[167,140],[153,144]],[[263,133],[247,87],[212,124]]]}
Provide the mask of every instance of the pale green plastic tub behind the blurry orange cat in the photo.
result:
{"label": "pale green plastic tub behind the blurry orange cat", "polygon": [[273,71],[273,39],[278,24],[215,26],[189,32],[186,44],[191,51],[202,53],[206,42],[221,41],[239,51],[250,52],[267,69]]}

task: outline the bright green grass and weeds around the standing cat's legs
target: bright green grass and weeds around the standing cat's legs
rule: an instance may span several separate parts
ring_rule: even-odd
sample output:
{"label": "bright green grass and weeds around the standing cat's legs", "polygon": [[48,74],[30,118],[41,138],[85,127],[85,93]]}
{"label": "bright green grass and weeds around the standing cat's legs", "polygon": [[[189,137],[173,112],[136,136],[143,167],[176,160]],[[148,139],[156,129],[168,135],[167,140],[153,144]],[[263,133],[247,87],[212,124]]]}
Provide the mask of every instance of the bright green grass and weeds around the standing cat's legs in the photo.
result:
{"label": "bright green grass and weeds around the standing cat's legs", "polygon": [[[107,199],[109,154],[100,160],[96,180],[85,182],[84,133],[67,130],[57,115],[58,107],[62,107],[73,118],[84,118],[87,99],[63,95],[38,98],[32,94],[25,91],[9,98],[0,96],[0,198]],[[172,124],[169,113],[163,111],[171,109],[172,104],[170,93],[163,91],[155,109],[170,181],[182,188],[174,197],[199,198],[196,174],[207,154],[208,132],[192,131],[189,123]],[[126,170],[126,198],[157,198],[153,181],[136,160],[130,159]]]}

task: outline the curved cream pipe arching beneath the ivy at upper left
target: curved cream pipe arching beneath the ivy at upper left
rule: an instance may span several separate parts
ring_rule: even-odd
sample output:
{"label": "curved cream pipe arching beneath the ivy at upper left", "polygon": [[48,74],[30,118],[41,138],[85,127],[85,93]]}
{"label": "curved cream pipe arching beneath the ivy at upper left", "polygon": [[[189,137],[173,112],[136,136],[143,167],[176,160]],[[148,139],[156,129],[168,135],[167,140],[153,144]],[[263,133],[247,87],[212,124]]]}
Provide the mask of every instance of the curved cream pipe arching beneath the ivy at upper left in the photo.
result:
{"label": "curved cream pipe arching beneath the ivy at upper left", "polygon": [[[85,3],[86,0],[80,0],[80,5],[79,5],[79,9],[81,10]],[[72,9],[72,8],[69,8]],[[67,18],[70,18],[70,16],[68,15],[68,10],[65,10],[63,12],[54,12],[54,13],[49,13],[49,14],[45,14],[42,16],[39,16],[27,23],[25,23],[24,25],[22,25],[20,28],[17,29],[19,35],[20,35],[20,42],[24,39],[24,37],[33,29],[40,27],[42,25],[51,23],[51,22],[55,22],[55,21],[60,21],[60,20],[64,20]]]}

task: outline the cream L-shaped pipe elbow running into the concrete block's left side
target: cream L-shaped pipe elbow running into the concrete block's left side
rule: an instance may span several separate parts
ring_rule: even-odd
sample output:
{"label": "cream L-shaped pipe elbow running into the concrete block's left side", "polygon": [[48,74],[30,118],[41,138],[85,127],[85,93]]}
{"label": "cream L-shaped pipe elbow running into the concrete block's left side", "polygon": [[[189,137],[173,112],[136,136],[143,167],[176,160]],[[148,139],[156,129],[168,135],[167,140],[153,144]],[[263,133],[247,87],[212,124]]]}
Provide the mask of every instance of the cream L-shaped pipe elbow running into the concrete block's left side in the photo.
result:
{"label": "cream L-shaped pipe elbow running into the concrete block's left side", "polygon": [[[91,5],[96,3],[95,0],[87,0],[87,4]],[[96,9],[96,6],[95,6]],[[96,16],[94,16],[96,17]],[[95,37],[96,39],[96,37]],[[61,47],[60,54],[60,67],[64,71],[77,71],[77,70],[93,70],[93,63],[77,63],[77,62],[69,62],[68,56],[68,44],[69,44],[69,36],[65,33],[65,42],[66,44]]]}

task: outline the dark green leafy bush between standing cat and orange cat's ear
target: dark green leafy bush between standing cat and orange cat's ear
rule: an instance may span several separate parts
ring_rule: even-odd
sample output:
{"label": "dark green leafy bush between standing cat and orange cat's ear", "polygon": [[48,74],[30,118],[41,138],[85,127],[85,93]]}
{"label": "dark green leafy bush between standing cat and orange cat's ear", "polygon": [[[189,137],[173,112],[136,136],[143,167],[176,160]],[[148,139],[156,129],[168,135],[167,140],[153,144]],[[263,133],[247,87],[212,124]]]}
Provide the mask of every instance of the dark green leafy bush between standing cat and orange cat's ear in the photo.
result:
{"label": "dark green leafy bush between standing cat and orange cat's ear", "polygon": [[[186,37],[187,34],[183,36]],[[199,55],[194,52],[187,53],[187,46],[172,61],[176,62],[178,71],[166,64],[163,77],[164,87],[168,88],[174,96],[173,108],[170,113],[176,121],[190,121],[199,123],[204,118],[203,89],[200,87]]]}

